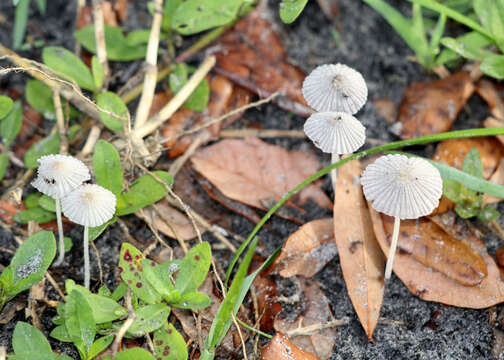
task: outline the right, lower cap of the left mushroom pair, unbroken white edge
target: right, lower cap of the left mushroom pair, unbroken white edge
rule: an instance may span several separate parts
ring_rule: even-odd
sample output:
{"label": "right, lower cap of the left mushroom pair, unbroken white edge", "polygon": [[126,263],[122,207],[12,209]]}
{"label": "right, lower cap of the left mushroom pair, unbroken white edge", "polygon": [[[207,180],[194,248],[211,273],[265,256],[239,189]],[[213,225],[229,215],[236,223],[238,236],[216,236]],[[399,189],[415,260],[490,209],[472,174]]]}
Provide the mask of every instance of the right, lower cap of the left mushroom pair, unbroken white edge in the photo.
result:
{"label": "right, lower cap of the left mushroom pair, unbroken white edge", "polygon": [[115,213],[116,197],[96,184],[84,184],[61,199],[63,214],[79,225],[100,226]]}

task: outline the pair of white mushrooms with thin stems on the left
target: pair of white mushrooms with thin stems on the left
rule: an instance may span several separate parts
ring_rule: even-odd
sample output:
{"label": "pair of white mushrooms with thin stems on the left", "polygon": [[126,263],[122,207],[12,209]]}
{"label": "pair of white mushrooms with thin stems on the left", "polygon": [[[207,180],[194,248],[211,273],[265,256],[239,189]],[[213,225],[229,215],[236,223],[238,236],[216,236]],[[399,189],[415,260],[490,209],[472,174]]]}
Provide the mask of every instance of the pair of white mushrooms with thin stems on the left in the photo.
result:
{"label": "pair of white mushrooms with thin stems on the left", "polygon": [[89,169],[73,156],[47,155],[38,159],[37,177],[32,185],[41,193],[55,199],[59,233],[60,265],[65,256],[61,211],[71,221],[84,226],[84,285],[89,288],[89,227],[100,226],[115,213],[116,197],[109,190],[95,184]]}

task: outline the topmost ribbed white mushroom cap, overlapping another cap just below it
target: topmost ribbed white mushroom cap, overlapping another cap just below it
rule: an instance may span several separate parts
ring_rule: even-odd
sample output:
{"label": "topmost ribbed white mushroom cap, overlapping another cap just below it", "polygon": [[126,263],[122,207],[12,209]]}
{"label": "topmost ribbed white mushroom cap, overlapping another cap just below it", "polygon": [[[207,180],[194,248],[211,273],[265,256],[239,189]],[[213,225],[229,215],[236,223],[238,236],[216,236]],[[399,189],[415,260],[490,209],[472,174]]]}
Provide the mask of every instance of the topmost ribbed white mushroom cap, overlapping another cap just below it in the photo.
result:
{"label": "topmost ribbed white mushroom cap, overlapping another cap just below it", "polygon": [[355,114],[367,100],[362,75],[343,64],[320,65],[303,82],[303,96],[317,111]]}

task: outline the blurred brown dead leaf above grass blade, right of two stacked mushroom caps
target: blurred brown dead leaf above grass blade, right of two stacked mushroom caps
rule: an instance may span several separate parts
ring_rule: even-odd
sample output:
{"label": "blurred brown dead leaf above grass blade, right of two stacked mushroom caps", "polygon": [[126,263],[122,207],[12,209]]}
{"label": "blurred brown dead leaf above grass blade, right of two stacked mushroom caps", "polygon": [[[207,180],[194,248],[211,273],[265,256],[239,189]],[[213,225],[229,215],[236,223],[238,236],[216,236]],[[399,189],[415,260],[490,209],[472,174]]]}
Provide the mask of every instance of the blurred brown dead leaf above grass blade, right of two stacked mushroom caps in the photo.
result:
{"label": "blurred brown dead leaf above grass blade, right of two stacked mushroom caps", "polygon": [[402,139],[448,131],[474,91],[469,74],[458,72],[447,78],[411,84],[399,108]]}

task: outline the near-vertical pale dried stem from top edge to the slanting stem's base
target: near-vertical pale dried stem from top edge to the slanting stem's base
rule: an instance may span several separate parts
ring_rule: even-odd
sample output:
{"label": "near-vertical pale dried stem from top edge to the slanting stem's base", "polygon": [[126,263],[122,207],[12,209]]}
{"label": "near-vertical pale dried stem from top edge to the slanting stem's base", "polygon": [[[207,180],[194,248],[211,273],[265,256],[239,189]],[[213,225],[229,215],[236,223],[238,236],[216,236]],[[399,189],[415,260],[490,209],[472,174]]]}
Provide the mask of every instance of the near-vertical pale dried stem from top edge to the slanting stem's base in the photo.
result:
{"label": "near-vertical pale dried stem from top edge to the slanting stem's base", "polygon": [[145,57],[145,78],[143,83],[142,97],[138,103],[135,129],[142,127],[147,121],[149,110],[154,99],[157,78],[157,55],[159,47],[159,33],[163,20],[163,0],[154,0],[154,19],[147,45],[147,55]]}

